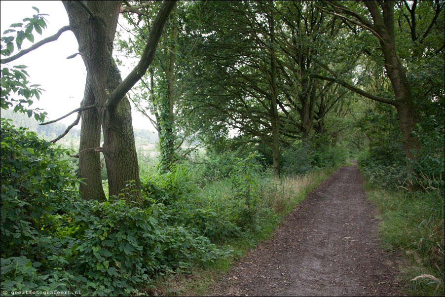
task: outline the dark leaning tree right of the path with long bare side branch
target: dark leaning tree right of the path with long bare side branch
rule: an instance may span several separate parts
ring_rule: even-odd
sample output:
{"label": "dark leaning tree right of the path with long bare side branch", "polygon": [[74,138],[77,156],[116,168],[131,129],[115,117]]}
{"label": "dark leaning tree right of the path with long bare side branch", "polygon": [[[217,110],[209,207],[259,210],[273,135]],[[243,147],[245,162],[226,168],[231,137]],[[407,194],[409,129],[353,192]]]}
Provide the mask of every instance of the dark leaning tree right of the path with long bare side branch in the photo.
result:
{"label": "dark leaning tree right of the path with long bare side branch", "polygon": [[[394,92],[394,99],[384,98],[376,95],[372,95],[368,92],[364,92],[351,84],[338,79],[337,75],[334,74],[330,69],[325,66],[325,69],[329,71],[332,77],[323,77],[320,75],[312,75],[312,77],[321,78],[333,82],[337,82],[346,88],[357,92],[371,100],[382,102],[385,104],[390,104],[394,106],[397,110],[399,116],[400,128],[403,134],[403,142],[405,148],[405,155],[411,160],[415,160],[416,153],[420,150],[420,142],[415,136],[416,124],[418,120],[418,114],[414,106],[414,100],[412,98],[411,86],[408,81],[408,76],[406,74],[406,67],[402,63],[398,53],[398,44],[395,35],[395,19],[394,19],[394,1],[364,1],[365,10],[360,10],[360,7],[350,8],[347,3],[346,5],[338,1],[324,1],[324,10],[340,17],[345,23],[354,24],[365,30],[369,31],[378,39],[380,44],[381,53],[384,59],[384,67],[386,73],[391,81],[391,85]],[[408,3],[405,2],[408,6]],[[415,20],[415,8],[416,1],[413,2],[412,7],[409,8],[411,13],[411,20]],[[431,28],[433,28],[437,22],[438,16],[441,11],[443,11],[443,3],[436,1],[436,11],[433,13],[433,18],[430,18],[430,26],[425,30],[422,35],[422,40],[424,40],[429,33]],[[408,19],[408,18],[407,18]],[[400,20],[399,20],[400,21]],[[409,19],[408,19],[409,22]],[[415,21],[410,23],[411,36],[414,40],[417,39],[417,34],[415,30]],[[418,50],[418,49],[416,49]],[[422,50],[424,53],[425,49]]]}

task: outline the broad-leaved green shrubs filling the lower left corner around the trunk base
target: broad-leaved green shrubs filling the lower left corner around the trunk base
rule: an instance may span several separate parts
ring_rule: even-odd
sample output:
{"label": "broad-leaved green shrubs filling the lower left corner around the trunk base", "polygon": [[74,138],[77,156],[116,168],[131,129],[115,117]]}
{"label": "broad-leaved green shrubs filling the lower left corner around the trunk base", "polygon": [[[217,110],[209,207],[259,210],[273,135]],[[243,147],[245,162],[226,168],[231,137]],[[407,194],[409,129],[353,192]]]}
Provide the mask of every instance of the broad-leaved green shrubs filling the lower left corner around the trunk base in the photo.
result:
{"label": "broad-leaved green shrubs filling the lower left corner around the trunk base", "polygon": [[[159,201],[148,199],[141,209],[115,197],[80,199],[79,181],[64,157],[70,151],[36,133],[2,119],[1,140],[2,288],[128,295],[156,274],[228,255],[170,220]],[[167,206],[191,193],[184,176],[184,170],[163,176]]]}

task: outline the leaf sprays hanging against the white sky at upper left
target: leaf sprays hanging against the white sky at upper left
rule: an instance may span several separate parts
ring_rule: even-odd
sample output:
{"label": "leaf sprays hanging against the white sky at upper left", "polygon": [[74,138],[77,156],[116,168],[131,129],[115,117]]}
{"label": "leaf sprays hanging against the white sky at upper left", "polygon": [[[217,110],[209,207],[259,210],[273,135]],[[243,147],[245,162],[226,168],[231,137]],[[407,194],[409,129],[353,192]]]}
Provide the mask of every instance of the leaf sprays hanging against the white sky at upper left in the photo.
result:
{"label": "leaf sprays hanging against the white sky at upper left", "polygon": [[[46,28],[44,16],[47,14],[38,13],[38,9],[33,7],[37,14],[32,18],[25,18],[25,23],[15,23],[10,26],[10,29],[3,32],[1,37],[1,56],[8,57],[14,51],[14,41],[17,49],[20,50],[22,42],[26,38],[34,42],[33,31],[36,30],[38,34],[42,34],[42,29]],[[18,29],[17,29],[18,28]],[[43,121],[46,112],[41,112],[40,109],[29,109],[33,104],[33,97],[40,98],[42,89],[40,85],[32,84],[28,81],[28,73],[25,70],[25,65],[7,66],[1,59],[1,101],[0,108],[7,110],[9,107],[14,107],[14,112],[27,113],[28,117],[34,114],[36,120]],[[12,94],[11,94],[12,93]],[[22,99],[16,99],[12,95],[20,95]],[[28,104],[28,107],[25,106]]]}

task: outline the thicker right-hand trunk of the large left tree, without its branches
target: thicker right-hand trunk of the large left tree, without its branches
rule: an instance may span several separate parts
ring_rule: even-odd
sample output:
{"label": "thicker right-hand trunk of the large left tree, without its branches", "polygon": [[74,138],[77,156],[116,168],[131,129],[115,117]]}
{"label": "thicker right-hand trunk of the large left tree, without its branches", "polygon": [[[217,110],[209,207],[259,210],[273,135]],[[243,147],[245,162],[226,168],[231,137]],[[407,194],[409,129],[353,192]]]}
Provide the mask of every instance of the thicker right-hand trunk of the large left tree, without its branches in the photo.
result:
{"label": "thicker right-hand trunk of the large left tree, without its branches", "polygon": [[[79,44],[79,53],[89,75],[88,83],[92,86],[98,105],[98,115],[102,120],[104,131],[102,151],[107,165],[109,193],[121,194],[121,190],[127,187],[127,181],[133,180],[135,183],[129,191],[136,191],[125,197],[141,203],[142,194],[130,104],[124,98],[117,107],[106,107],[111,92],[122,81],[111,55],[121,2],[88,1],[87,7],[82,6],[80,2],[63,1],[63,3]],[[84,123],[82,120],[82,126],[84,124],[89,123]]]}

